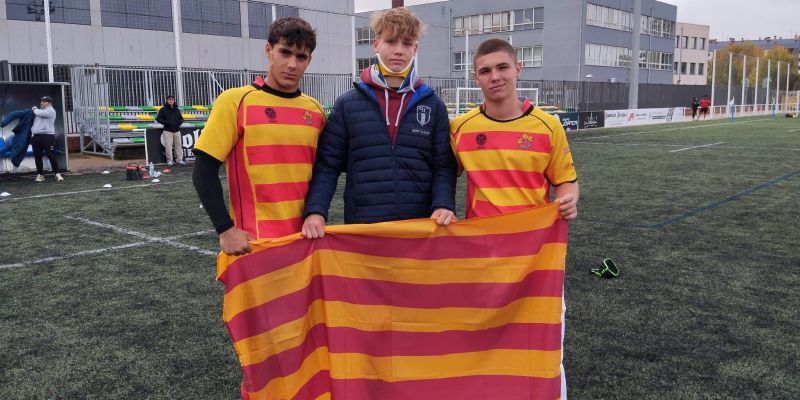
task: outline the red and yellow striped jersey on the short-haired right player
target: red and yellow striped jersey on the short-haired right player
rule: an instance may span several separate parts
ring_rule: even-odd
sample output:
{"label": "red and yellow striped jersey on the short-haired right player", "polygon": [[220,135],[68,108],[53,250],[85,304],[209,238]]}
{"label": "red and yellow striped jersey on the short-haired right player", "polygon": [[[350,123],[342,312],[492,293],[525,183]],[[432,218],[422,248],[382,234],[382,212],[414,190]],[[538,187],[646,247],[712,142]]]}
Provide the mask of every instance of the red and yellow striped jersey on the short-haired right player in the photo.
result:
{"label": "red and yellow striped jersey on the short-haired right player", "polygon": [[467,173],[466,217],[483,217],[550,203],[550,186],[577,180],[558,119],[531,105],[509,121],[476,107],[450,124],[459,170]]}

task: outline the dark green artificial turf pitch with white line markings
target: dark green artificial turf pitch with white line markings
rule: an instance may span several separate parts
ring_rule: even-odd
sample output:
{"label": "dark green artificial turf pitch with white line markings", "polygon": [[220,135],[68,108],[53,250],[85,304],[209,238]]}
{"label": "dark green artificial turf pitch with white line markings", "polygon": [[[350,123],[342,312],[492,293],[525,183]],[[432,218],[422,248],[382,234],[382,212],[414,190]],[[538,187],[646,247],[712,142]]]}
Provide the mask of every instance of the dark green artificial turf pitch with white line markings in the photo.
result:
{"label": "dark green artificial turf pitch with white line markings", "polygon": [[[800,398],[800,120],[568,136],[570,398]],[[237,398],[216,234],[160,179],[0,178],[0,399]]]}

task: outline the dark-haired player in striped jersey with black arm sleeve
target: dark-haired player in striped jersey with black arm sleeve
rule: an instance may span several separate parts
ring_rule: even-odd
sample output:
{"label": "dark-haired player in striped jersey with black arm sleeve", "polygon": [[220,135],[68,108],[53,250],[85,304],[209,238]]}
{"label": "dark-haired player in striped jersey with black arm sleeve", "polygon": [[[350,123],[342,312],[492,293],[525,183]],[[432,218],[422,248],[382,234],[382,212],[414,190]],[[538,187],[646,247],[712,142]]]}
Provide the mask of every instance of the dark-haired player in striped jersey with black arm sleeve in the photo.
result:
{"label": "dark-haired player in striped jersey with black arm sleeve", "polygon": [[[249,240],[300,232],[317,139],[325,114],[300,92],[316,47],[308,22],[287,17],[269,30],[269,74],[226,90],[214,102],[194,146],[193,181],[226,254],[251,251]],[[226,164],[230,213],[219,167]]]}

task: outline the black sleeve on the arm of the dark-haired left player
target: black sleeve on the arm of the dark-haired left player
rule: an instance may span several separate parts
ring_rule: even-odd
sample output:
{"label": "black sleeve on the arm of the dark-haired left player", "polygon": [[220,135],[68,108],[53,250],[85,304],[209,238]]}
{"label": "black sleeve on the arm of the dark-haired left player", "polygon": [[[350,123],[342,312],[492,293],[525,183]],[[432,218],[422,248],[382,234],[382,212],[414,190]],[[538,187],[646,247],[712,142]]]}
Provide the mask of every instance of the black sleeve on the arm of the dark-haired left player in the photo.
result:
{"label": "black sleeve on the arm of the dark-haired left player", "polygon": [[222,183],[219,180],[219,167],[222,166],[222,162],[197,149],[194,153],[197,158],[192,171],[192,182],[197,190],[197,196],[200,197],[200,203],[206,209],[217,233],[225,232],[233,227],[233,221],[225,207]]}

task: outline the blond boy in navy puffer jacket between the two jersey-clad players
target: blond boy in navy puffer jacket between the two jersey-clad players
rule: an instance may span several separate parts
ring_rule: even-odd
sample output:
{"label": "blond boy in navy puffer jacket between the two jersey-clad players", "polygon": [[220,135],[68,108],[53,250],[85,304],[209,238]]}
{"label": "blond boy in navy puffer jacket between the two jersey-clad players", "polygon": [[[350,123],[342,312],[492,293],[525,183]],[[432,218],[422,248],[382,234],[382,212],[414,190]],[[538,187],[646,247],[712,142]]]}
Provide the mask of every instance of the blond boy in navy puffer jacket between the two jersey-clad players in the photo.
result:
{"label": "blond boy in navy puffer jacket between the two jersey-clad players", "polygon": [[339,175],[347,171],[344,222],[455,221],[455,159],[447,109],[417,76],[424,26],[405,7],[375,14],[375,63],[334,104],[320,137],[303,235],[325,234]]}

